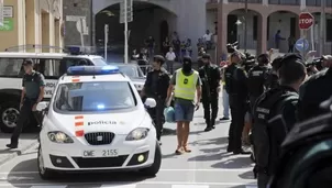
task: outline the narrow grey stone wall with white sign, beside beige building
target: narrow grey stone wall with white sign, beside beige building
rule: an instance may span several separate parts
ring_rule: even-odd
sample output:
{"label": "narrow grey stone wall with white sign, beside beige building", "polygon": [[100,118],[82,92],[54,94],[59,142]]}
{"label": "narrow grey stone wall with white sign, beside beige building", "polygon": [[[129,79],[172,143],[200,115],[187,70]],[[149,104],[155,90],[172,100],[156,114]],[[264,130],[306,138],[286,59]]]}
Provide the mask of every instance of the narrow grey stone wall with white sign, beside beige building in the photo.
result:
{"label": "narrow grey stone wall with white sign, beside beige building", "polygon": [[65,46],[93,46],[92,0],[65,0]]}

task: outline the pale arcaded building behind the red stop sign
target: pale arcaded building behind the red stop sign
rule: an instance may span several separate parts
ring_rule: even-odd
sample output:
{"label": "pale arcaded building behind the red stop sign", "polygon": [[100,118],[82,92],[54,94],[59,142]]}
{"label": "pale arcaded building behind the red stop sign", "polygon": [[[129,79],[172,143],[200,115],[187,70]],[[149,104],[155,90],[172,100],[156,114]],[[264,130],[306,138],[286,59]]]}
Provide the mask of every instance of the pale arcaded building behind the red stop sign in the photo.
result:
{"label": "pale arcaded building behind the red stop sign", "polygon": [[[324,33],[324,54],[332,53],[332,0],[325,0],[324,11],[327,24]],[[226,53],[226,43],[239,41],[240,47],[244,46],[244,31],[246,26],[246,46],[257,53],[265,53],[275,47],[275,34],[280,30],[285,41],[280,42],[279,51],[288,52],[287,38],[306,37],[312,44],[310,49],[318,51],[320,38],[320,14],[323,11],[320,0],[248,0],[248,12],[245,14],[244,0],[208,0],[207,26],[217,27],[218,56]],[[299,14],[310,12],[314,15],[316,23],[311,30],[299,30]],[[214,22],[217,22],[214,24]],[[237,25],[236,25],[237,23]],[[241,23],[241,24],[239,24]],[[226,34],[225,34],[226,33]]]}

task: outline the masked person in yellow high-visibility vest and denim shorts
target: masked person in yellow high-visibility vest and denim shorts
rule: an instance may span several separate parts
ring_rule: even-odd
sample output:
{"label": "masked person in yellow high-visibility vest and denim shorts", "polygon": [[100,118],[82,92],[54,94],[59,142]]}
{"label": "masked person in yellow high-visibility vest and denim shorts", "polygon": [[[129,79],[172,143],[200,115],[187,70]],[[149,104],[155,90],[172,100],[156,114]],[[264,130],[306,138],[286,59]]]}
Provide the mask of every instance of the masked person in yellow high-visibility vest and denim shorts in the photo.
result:
{"label": "masked person in yellow high-visibility vest and denim shorts", "polygon": [[195,110],[199,109],[202,85],[198,71],[191,68],[191,58],[184,57],[182,62],[182,68],[177,69],[170,79],[166,100],[168,101],[171,92],[174,92],[174,110],[178,139],[178,146],[175,153],[177,155],[191,152],[187,146],[190,131],[189,125],[193,119]]}

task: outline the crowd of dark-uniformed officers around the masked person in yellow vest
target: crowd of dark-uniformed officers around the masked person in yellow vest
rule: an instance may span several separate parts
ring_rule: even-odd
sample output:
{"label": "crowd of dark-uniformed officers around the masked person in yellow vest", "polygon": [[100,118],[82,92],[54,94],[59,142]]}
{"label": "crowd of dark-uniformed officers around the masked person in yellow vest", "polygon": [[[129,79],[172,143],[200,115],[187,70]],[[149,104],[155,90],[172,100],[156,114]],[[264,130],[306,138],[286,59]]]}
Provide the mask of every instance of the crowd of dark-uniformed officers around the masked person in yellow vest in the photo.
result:
{"label": "crowd of dark-uniformed officers around the masked person in yellow vest", "polygon": [[[184,57],[182,67],[170,78],[163,68],[167,60],[162,55],[154,56],[142,97],[157,101],[157,108],[151,111],[157,139],[161,140],[165,122],[164,109],[171,106],[178,139],[175,153],[190,152],[187,143],[195,111],[202,103],[204,131],[213,130],[222,91],[224,117],[221,120],[231,119],[226,151],[234,155],[252,154],[258,188],[265,188],[276,170],[279,147],[289,131],[297,123],[329,111],[321,109],[320,103],[332,96],[329,84],[332,56],[322,56],[320,66],[311,65],[308,69],[306,59],[297,53],[273,60],[269,54],[262,54],[248,70],[244,65],[246,57],[237,51],[229,55],[229,63],[223,67],[212,64],[209,54],[201,58],[203,65],[197,71],[191,58]],[[174,104],[167,102],[170,98],[175,99]],[[246,144],[253,150],[245,150]]]}

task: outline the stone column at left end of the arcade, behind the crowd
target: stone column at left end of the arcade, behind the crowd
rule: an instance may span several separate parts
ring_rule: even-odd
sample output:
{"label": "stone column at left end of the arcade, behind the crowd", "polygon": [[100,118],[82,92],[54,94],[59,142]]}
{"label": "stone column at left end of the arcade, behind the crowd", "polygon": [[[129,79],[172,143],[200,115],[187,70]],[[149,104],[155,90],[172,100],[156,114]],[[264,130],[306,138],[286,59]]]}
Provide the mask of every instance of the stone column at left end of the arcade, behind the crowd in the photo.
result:
{"label": "stone column at left end of the arcade, behind the crowd", "polygon": [[223,3],[218,4],[218,60],[222,54],[228,53],[228,12],[223,10]]}

